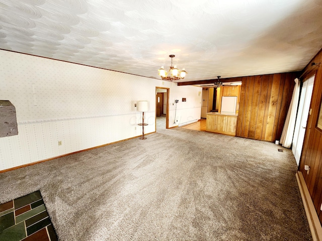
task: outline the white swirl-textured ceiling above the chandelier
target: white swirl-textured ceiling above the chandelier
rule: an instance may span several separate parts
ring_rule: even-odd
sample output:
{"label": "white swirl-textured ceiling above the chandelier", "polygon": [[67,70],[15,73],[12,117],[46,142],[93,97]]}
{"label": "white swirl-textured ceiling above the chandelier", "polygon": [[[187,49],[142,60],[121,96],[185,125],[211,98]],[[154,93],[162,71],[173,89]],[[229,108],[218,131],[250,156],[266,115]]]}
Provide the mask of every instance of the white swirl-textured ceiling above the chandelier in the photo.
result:
{"label": "white swirl-textured ceiling above the chandelier", "polygon": [[[0,49],[195,81],[302,70],[322,48],[322,0],[0,0]],[[177,81],[178,82],[178,81]]]}

